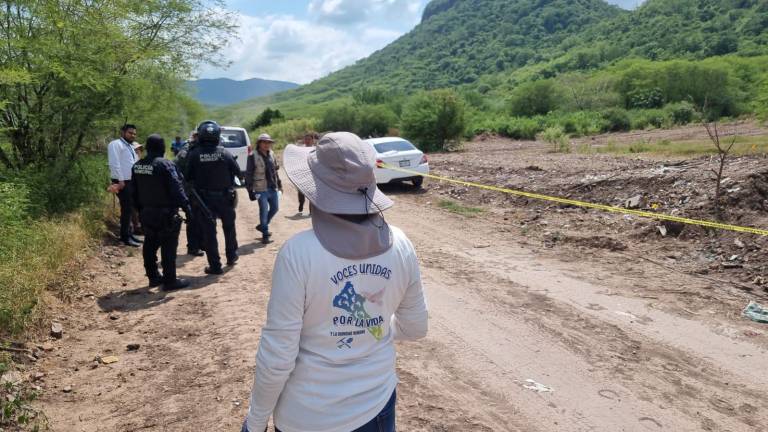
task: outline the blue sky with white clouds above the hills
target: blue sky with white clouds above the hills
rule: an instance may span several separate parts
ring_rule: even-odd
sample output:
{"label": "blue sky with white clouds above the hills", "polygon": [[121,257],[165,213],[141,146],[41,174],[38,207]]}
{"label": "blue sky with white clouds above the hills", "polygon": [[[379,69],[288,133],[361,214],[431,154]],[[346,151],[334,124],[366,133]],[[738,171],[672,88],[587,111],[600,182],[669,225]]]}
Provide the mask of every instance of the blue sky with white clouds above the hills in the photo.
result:
{"label": "blue sky with white clouds above the hills", "polygon": [[[308,83],[367,57],[411,30],[429,0],[227,0],[240,19],[228,68],[200,78]],[[608,0],[627,9],[640,0]]]}

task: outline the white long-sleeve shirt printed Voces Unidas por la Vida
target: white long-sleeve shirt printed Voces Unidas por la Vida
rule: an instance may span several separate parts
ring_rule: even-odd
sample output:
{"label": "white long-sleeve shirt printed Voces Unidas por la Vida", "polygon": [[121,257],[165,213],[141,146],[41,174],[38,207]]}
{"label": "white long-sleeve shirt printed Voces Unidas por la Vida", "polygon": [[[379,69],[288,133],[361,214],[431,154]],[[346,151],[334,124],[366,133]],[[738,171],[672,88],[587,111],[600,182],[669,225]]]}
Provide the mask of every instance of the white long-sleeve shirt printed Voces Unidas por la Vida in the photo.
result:
{"label": "white long-sleeve shirt printed Voces Unidas por la Vida", "polygon": [[272,275],[247,424],[270,414],[283,432],[349,432],[372,420],[397,385],[395,339],[427,333],[413,245],[361,260],[326,251],[314,231],[283,245]]}

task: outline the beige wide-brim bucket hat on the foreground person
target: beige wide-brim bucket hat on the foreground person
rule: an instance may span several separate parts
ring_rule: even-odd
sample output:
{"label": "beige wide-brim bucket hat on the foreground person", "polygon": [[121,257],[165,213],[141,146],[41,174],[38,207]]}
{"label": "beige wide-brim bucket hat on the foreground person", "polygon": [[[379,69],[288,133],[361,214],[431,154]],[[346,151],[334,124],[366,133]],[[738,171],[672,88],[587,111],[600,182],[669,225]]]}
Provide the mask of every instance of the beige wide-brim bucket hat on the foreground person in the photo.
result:
{"label": "beige wide-brim bucket hat on the foreground person", "polygon": [[314,206],[331,214],[374,214],[393,202],[376,187],[373,146],[350,132],[326,134],[315,147],[289,145],[288,178]]}

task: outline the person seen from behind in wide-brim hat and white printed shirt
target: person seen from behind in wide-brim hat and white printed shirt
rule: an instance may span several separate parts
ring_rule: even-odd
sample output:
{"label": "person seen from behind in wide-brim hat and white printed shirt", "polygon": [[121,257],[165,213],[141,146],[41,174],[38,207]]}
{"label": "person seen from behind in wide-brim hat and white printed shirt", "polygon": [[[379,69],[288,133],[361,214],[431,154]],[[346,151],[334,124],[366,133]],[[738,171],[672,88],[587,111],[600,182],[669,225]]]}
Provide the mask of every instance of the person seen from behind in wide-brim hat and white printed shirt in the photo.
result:
{"label": "person seen from behind in wide-brim hat and white printed shirt", "polygon": [[427,333],[413,245],[389,225],[373,147],[357,135],[289,145],[288,178],[312,203],[312,229],[275,261],[243,431],[394,431],[395,339]]}

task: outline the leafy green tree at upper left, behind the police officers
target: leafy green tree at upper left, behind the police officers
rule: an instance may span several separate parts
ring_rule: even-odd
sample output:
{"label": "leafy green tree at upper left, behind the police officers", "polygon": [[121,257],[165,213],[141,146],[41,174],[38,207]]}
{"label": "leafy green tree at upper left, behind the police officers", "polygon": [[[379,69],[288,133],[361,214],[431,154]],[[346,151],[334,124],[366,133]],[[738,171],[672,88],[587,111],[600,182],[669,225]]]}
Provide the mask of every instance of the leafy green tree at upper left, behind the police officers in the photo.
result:
{"label": "leafy green tree at upper left, behind the police officers", "polygon": [[200,59],[219,61],[215,53],[234,32],[222,6],[220,0],[0,2],[0,163],[22,169],[75,161],[88,142],[131,117],[188,111],[181,106],[190,103],[183,79]]}

